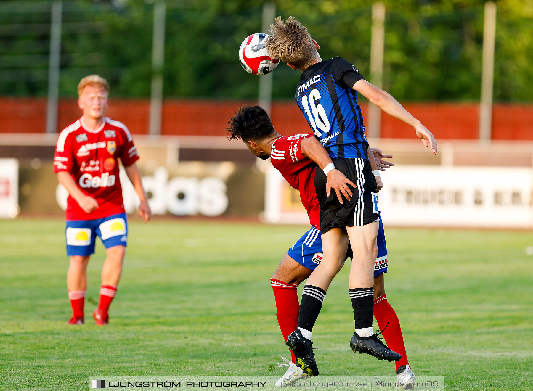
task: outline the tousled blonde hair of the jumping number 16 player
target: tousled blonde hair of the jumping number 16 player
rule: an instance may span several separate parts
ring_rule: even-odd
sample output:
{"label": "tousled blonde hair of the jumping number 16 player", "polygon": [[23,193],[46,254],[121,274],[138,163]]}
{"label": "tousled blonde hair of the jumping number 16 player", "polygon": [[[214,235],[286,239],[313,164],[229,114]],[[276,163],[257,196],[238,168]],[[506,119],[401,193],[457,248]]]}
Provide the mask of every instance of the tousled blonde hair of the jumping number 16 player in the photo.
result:
{"label": "tousled blonde hair of the jumping number 16 player", "polygon": [[271,58],[280,59],[301,70],[309,67],[317,58],[317,49],[307,28],[294,17],[276,21],[270,25],[271,35],[266,38],[266,50]]}

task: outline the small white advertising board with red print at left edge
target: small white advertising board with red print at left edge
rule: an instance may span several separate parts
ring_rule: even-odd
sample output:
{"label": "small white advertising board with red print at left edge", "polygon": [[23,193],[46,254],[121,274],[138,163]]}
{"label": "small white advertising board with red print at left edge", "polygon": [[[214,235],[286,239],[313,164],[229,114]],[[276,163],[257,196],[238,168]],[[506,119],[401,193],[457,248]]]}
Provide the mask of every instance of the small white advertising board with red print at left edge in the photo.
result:
{"label": "small white advertising board with red print at left edge", "polygon": [[0,218],[19,214],[19,161],[0,159]]}

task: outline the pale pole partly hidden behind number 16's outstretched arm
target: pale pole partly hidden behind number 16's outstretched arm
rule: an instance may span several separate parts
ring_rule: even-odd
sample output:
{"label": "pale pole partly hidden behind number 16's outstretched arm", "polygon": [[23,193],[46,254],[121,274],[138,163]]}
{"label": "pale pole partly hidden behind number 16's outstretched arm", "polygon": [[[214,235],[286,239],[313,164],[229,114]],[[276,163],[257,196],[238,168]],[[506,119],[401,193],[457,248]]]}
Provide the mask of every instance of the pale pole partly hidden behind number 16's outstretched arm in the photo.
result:
{"label": "pale pole partly hidden behind number 16's outstretched arm", "polygon": [[[385,5],[372,5],[372,37],[370,38],[370,81],[378,88],[383,87],[383,52],[385,48]],[[368,136],[381,135],[381,109],[368,102]]]}

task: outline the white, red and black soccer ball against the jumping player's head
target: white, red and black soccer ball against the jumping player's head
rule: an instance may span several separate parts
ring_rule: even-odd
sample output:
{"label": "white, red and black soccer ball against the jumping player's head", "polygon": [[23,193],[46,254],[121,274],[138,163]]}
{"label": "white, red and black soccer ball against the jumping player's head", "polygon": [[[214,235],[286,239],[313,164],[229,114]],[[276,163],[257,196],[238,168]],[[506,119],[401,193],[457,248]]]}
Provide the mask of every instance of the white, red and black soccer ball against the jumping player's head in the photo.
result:
{"label": "white, red and black soccer ball against the jumping player's head", "polygon": [[279,60],[272,60],[266,51],[267,37],[268,35],[262,32],[256,32],[240,44],[240,64],[249,74],[266,75],[278,66]]}

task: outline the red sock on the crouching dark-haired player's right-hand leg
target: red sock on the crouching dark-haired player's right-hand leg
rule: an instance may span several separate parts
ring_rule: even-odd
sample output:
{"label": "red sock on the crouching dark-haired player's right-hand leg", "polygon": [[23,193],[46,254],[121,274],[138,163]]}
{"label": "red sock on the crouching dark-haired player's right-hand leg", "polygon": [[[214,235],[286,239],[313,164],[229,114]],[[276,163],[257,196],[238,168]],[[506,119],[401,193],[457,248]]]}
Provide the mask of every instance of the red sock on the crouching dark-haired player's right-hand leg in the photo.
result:
{"label": "red sock on the crouching dark-haired player's right-hand leg", "polygon": [[[398,320],[398,316],[394,312],[394,309],[389,302],[387,302],[387,297],[385,295],[374,299],[374,316],[379,325],[379,330],[383,330],[386,327],[385,331],[383,331],[383,337],[385,337],[387,346],[394,352],[401,354],[401,359],[395,361],[396,369],[401,365],[409,364],[407,361],[405,345],[403,344],[400,321]],[[387,325],[387,323],[389,324]]]}

